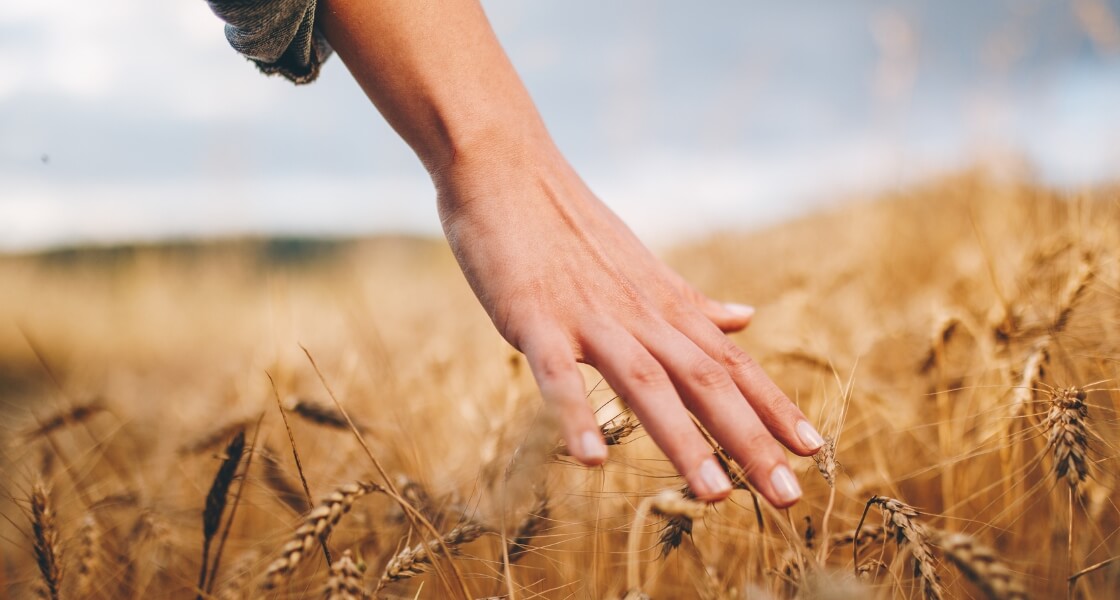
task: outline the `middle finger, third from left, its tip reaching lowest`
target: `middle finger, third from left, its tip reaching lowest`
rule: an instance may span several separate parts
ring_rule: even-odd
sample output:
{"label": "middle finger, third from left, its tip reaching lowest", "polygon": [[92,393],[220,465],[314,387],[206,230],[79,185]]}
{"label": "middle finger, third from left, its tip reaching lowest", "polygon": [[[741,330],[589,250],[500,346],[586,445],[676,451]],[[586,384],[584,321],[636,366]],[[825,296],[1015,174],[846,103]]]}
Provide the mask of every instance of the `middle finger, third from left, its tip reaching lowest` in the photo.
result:
{"label": "middle finger, third from left, its tip reaching lowest", "polygon": [[644,329],[640,340],[664,365],[685,406],[743,466],[755,489],[780,508],[797,501],[801,486],[790,470],[785,451],[747,404],[727,369],[668,325]]}

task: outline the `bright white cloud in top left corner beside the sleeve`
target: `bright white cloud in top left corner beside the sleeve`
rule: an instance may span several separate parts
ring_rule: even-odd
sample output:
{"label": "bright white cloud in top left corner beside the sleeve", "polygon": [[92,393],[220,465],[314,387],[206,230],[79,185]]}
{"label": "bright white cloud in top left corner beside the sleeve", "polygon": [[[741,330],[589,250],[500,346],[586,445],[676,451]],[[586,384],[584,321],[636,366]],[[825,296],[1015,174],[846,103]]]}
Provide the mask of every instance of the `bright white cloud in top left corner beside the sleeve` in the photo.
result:
{"label": "bright white cloud in top left corner beside the sleeve", "polygon": [[281,93],[228,47],[204,0],[3,2],[0,22],[19,34],[0,43],[0,101],[112,99],[148,114],[214,119],[268,110]]}

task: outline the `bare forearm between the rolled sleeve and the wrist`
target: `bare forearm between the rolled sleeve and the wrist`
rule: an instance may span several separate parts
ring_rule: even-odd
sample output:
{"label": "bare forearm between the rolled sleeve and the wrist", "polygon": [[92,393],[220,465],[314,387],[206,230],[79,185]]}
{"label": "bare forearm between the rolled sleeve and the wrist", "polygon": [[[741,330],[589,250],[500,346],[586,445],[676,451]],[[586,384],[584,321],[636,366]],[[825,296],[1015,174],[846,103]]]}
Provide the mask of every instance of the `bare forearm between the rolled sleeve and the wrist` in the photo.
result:
{"label": "bare forearm between the rolled sleeve and the wrist", "polygon": [[433,178],[550,144],[476,0],[323,0],[319,27]]}

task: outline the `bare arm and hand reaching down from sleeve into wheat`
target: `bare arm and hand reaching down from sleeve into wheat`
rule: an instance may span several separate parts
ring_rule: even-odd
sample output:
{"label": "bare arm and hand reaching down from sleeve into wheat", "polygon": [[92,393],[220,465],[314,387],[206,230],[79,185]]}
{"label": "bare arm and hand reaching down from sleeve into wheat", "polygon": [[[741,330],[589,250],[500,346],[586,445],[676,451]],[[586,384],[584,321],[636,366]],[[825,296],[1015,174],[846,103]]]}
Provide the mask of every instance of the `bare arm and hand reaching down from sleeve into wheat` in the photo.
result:
{"label": "bare arm and hand reaching down from sleeve into wheat", "polygon": [[[557,150],[475,0],[323,0],[319,26],[428,168],[444,231],[495,327],[523,351],[575,457],[606,459],[576,363],[595,366],[701,498],[730,491],[689,413],[774,505],[801,495],[778,443],[823,442]],[[775,439],[776,438],[776,439]]]}

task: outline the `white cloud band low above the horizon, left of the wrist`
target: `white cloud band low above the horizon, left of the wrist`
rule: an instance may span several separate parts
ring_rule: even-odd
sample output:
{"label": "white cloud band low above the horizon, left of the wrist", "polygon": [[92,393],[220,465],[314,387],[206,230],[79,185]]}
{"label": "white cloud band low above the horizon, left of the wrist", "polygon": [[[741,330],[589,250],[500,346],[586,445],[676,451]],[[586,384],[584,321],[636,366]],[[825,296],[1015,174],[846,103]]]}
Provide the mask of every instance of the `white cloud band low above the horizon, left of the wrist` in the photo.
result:
{"label": "white cloud band low above the horizon, left of the wrist", "polygon": [[431,185],[420,179],[6,182],[0,250],[68,243],[271,233],[436,235]]}

